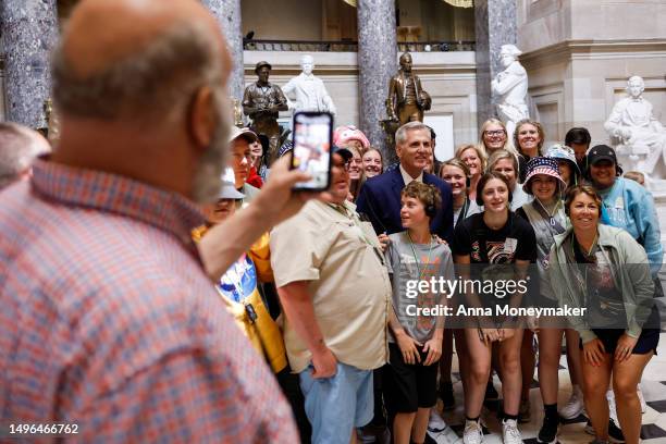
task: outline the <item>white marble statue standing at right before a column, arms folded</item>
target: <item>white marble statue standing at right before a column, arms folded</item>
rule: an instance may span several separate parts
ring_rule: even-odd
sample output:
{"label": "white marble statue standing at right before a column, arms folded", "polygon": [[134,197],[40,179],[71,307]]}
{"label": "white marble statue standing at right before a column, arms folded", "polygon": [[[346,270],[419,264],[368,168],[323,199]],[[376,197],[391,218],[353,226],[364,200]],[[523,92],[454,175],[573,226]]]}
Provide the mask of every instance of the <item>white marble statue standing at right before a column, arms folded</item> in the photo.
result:
{"label": "white marble statue standing at right before a column, arms folded", "polygon": [[491,82],[497,107],[497,115],[506,124],[508,139],[514,137],[516,123],[529,118],[527,106],[527,71],[518,61],[520,51],[514,45],[503,45],[499,50],[504,71]]}

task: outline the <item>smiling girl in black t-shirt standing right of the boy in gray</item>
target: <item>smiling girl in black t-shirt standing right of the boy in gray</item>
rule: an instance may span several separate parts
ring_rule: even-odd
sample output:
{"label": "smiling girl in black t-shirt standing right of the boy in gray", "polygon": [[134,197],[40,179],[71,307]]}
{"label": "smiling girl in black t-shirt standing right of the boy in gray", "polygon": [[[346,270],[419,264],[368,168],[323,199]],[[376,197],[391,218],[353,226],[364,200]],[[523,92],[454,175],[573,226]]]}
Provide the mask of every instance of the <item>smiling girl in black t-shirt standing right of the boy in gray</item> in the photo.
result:
{"label": "smiling girl in black t-shirt standing right of the boy in gray", "polygon": [[[486,173],[479,181],[477,202],[484,211],[462,221],[455,230],[453,252],[464,279],[490,279],[489,268],[479,275],[470,273],[469,264],[491,264],[497,270],[499,264],[514,264],[518,274],[511,279],[525,279],[527,267],[536,259],[536,240],[532,226],[509,211],[511,195],[506,178],[496,173]],[[467,267],[465,267],[467,264]],[[511,266],[511,269],[514,268]],[[478,268],[477,266],[476,268]],[[508,269],[509,267],[506,267]],[[466,270],[467,269],[467,270]],[[499,274],[506,274],[506,269]],[[479,274],[479,273],[477,273]],[[491,308],[493,316],[479,318],[478,326],[465,331],[468,353],[467,384],[464,442],[478,442],[482,434],[479,417],[483,405],[483,395],[491,370],[491,353],[494,342],[499,344],[499,362],[503,369],[502,391],[504,397],[504,420],[502,422],[505,443],[520,443],[517,428],[520,403],[520,344],[522,329],[509,328],[509,319],[494,316],[495,307],[482,305],[480,295],[468,294],[466,306],[484,306]],[[508,300],[510,306],[518,306],[520,295],[508,295],[496,303]],[[468,324],[473,322],[468,318]]]}

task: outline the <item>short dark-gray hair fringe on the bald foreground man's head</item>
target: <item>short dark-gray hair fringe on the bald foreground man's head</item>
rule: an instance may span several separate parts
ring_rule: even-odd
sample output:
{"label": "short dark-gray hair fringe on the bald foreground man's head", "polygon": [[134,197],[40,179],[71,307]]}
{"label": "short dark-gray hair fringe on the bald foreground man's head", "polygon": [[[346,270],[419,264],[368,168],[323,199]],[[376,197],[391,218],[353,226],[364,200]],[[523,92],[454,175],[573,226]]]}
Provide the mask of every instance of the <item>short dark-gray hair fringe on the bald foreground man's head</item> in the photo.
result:
{"label": "short dark-gray hair fringe on the bald foreground man's head", "polygon": [[78,118],[169,121],[197,88],[222,85],[219,46],[206,24],[178,21],[144,48],[82,77],[61,42],[52,60],[54,103]]}

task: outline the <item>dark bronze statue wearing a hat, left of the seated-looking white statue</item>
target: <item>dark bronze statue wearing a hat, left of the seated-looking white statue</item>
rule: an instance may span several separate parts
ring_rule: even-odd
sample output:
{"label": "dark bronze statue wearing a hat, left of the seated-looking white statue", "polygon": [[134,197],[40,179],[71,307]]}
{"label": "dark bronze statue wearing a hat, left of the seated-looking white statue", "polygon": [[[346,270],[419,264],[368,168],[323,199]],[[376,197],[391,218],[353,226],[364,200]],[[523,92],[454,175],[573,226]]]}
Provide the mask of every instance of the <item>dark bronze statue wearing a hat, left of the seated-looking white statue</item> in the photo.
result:
{"label": "dark bronze statue wearing a hat, left of the seated-looking white statue", "polygon": [[287,100],[278,85],[269,83],[272,66],[269,62],[259,62],[255,67],[257,82],[245,88],[243,112],[252,120],[250,128],[269,138],[270,161],[275,160],[280,149],[279,111],[287,110]]}

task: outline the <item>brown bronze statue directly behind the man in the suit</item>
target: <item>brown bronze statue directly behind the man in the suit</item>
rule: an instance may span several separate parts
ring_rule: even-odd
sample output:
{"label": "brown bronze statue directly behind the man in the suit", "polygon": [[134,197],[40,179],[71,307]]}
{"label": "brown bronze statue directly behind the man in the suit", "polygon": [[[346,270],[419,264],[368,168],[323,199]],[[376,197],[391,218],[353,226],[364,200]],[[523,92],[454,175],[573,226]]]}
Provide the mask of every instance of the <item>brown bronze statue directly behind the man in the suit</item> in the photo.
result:
{"label": "brown bronze statue directly behind the man in the suit", "polygon": [[411,54],[400,55],[400,69],[388,83],[388,99],[386,103],[388,119],[399,122],[423,122],[423,111],[430,110],[432,99],[421,87],[419,76],[411,72]]}

